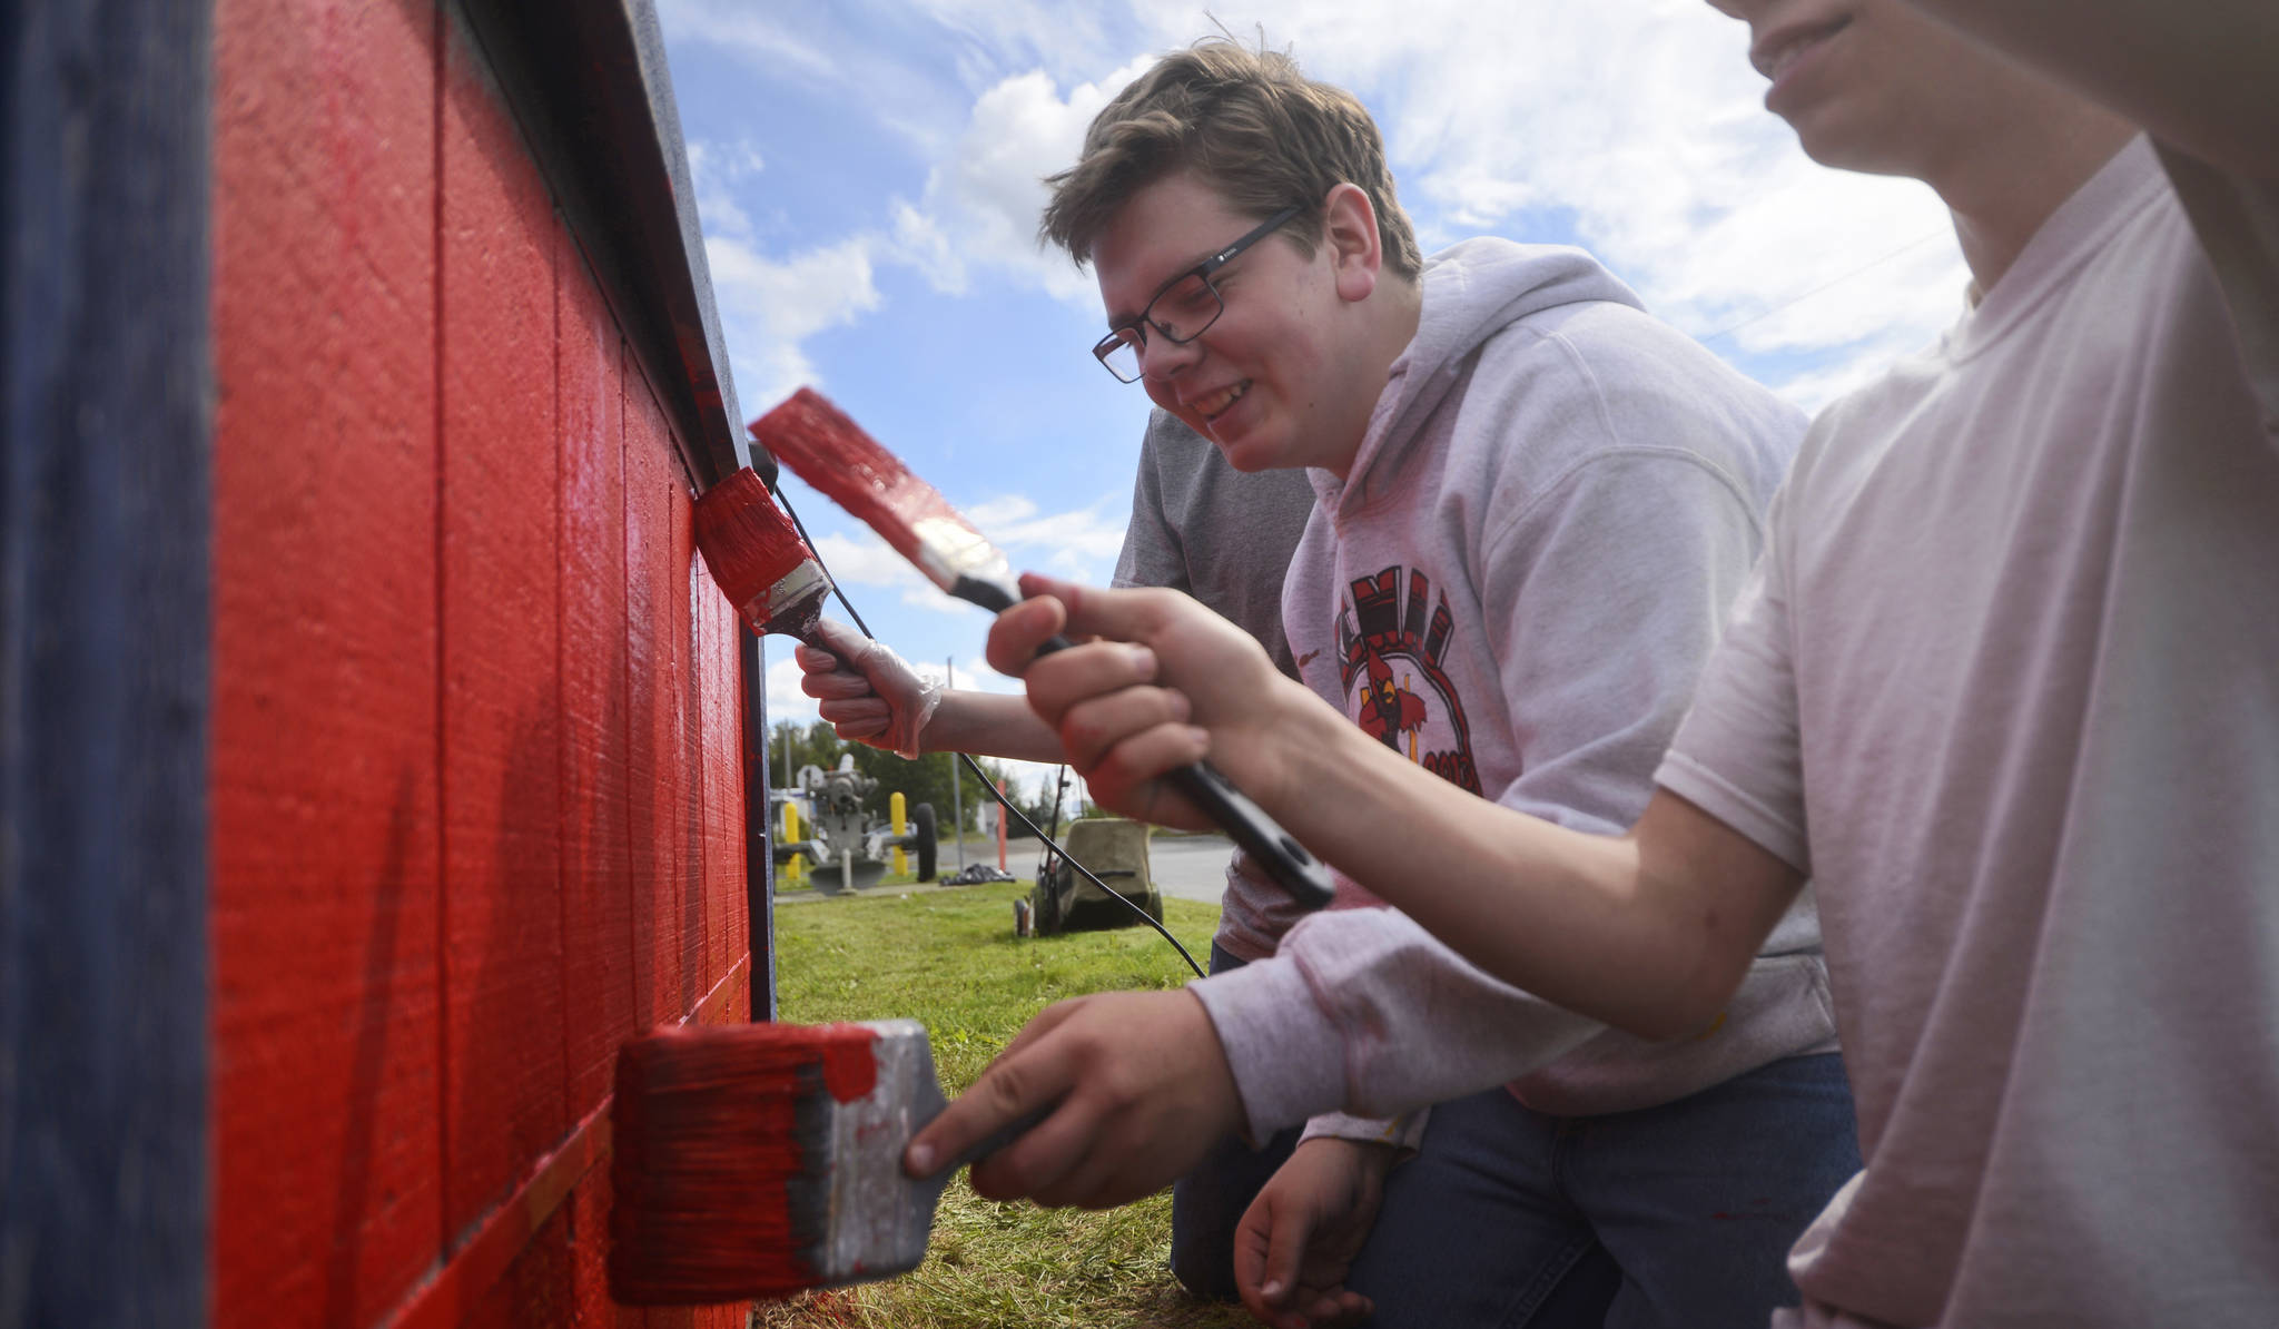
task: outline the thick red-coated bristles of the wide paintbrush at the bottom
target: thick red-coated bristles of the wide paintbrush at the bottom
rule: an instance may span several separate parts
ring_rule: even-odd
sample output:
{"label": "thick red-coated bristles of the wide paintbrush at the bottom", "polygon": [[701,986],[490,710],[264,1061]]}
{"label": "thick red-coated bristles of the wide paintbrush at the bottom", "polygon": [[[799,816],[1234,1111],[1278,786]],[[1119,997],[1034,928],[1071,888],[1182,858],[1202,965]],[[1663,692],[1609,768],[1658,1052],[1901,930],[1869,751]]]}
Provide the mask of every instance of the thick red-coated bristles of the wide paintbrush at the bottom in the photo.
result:
{"label": "thick red-coated bristles of the wide paintbrush at the bottom", "polygon": [[823,1283],[832,1112],[871,1092],[875,1033],[681,1026],[618,1051],[608,1293],[627,1306]]}

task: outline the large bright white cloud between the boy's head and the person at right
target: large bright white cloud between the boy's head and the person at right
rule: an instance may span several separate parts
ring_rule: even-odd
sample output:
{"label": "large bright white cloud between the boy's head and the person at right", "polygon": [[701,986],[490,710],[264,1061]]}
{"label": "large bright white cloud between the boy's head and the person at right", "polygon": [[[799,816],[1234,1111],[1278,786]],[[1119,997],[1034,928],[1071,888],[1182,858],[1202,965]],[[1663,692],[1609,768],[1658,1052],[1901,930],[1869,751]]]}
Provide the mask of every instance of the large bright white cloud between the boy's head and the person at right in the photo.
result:
{"label": "large bright white cloud between the boy's head and the person at right", "polygon": [[[1912,349],[1958,310],[1944,207],[1912,180],[1828,171],[1762,109],[1746,30],[1700,0],[1215,7],[1263,23],[1308,75],[1354,89],[1388,137],[1427,248],[1570,219],[1648,308],[1734,353]],[[1185,16],[1160,21],[1174,30]]]}

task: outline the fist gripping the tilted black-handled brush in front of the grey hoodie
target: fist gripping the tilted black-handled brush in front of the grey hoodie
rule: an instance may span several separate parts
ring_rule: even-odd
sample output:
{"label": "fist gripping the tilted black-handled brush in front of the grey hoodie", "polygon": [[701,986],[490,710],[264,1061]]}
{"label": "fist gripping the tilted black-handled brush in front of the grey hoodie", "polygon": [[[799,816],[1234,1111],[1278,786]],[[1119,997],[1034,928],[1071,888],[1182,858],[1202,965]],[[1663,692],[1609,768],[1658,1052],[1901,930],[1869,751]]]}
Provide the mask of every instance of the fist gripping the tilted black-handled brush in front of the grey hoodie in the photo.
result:
{"label": "fist gripping the tilted black-handled brush in front of the grey hoodie", "polygon": [[[989,629],[989,663],[1028,684],[1028,704],[1060,734],[1101,807],[1210,827],[1160,775],[1210,757],[1276,814],[1294,786],[1283,739],[1294,709],[1322,709],[1251,634],[1176,590],[1096,590],[1021,577],[1032,600]],[[1105,641],[1037,657],[1055,631]],[[1333,714],[1329,714],[1335,718]]]}

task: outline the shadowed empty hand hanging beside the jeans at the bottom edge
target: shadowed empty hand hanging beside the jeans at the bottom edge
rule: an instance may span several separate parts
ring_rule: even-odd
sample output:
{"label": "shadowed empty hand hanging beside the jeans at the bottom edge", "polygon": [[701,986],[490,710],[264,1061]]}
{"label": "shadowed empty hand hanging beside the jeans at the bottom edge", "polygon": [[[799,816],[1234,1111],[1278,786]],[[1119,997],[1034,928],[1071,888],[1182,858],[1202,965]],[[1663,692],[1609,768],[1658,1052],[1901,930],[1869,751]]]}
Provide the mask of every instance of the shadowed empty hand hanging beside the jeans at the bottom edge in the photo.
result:
{"label": "shadowed empty hand hanging beside the jeans at the bottom edge", "polygon": [[1374,1311],[1345,1272],[1377,1226],[1397,1151],[1315,1138],[1274,1172],[1235,1226],[1235,1286],[1274,1329],[1338,1329]]}

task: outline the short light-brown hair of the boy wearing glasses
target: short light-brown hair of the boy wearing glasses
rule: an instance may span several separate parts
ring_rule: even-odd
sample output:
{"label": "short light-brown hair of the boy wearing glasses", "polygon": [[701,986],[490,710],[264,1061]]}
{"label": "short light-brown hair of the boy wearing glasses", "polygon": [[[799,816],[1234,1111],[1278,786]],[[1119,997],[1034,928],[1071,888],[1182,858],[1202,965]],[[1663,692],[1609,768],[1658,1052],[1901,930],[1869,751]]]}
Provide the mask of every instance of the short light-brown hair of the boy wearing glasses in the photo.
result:
{"label": "short light-brown hair of the boy wearing glasses", "polygon": [[1226,203],[1260,221],[1299,207],[1285,233],[1304,253],[1322,244],[1322,201],[1351,182],[1377,210],[1386,269],[1424,271],[1408,214],[1392,194],[1386,144],[1354,93],[1315,82],[1279,50],[1206,36],[1155,62],[1085,130],[1076,166],[1046,176],[1053,201],[1037,237],[1078,264],[1101,230],[1149,185],[1194,171]]}

